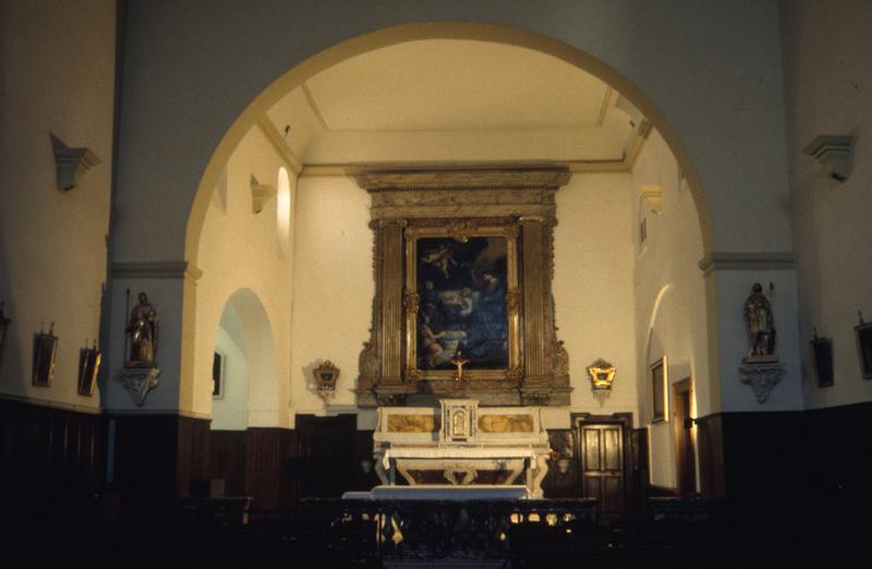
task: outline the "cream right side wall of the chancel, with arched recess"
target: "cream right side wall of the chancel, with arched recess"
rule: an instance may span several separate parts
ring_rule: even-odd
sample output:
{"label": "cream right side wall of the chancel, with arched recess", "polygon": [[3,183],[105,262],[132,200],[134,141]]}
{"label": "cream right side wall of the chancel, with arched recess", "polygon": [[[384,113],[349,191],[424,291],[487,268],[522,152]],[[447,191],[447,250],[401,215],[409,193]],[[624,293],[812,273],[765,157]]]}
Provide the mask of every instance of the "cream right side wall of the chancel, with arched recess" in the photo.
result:
{"label": "cream right side wall of the chancel, with arched recess", "polygon": [[[631,174],[634,242],[635,366],[639,374],[640,424],[650,427],[651,482],[675,487],[675,441],[671,400],[667,422],[652,424],[652,385],[649,366],[667,359],[669,385],[693,380],[694,416],[710,414],[712,385],[706,344],[705,282],[698,263],[703,255],[695,204],[680,177],[678,164],[657,131],[652,131]],[[640,201],[643,190],[662,189],[662,210],[646,214],[647,238],[639,245]],[[667,387],[671,397],[671,387]]]}

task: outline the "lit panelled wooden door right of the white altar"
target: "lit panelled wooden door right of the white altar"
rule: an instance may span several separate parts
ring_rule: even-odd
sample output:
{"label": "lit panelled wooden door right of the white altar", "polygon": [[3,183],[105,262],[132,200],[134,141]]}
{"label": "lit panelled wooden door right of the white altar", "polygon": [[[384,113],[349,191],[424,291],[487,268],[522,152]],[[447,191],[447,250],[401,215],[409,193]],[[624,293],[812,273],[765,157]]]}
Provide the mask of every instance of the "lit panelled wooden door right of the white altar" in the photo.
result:
{"label": "lit panelled wooden door right of the white altar", "polygon": [[622,510],[626,494],[623,425],[580,423],[579,440],[582,497],[596,498],[603,511]]}

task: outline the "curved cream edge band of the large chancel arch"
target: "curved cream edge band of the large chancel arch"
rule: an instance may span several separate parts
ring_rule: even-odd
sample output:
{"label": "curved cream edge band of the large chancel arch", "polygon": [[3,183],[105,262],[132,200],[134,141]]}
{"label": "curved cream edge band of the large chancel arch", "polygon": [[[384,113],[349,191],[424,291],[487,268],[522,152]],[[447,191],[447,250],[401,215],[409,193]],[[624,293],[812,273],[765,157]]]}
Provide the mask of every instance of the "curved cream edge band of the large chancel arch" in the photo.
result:
{"label": "curved cream edge band of the large chancel arch", "polygon": [[702,181],[675,129],[665,114],[628,77],[600,59],[564,41],[530,32],[495,24],[469,22],[428,22],[402,24],[371,32],[329,47],[292,68],[264,89],[237,118],[221,138],[209,159],[208,166],[196,190],[185,229],[185,259],[196,266],[199,235],[206,217],[211,192],[220,177],[221,169],[233,149],[263,116],[282,96],[300,86],[308,77],[346,59],[368,51],[407,41],[421,39],[471,39],[523,47],[553,56],[603,80],[627,97],[651,121],[668,144],[688,180],[688,185],[697,205],[703,245],[706,253],[713,246],[710,211]]}

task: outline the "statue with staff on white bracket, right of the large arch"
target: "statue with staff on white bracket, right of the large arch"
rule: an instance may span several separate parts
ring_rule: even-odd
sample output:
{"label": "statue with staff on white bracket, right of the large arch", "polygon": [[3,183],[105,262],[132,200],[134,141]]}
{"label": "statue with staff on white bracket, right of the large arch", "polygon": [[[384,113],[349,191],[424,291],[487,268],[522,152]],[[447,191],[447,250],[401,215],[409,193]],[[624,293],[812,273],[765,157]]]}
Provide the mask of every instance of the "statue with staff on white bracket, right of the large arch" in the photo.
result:
{"label": "statue with staff on white bracket, right of the large arch", "polygon": [[[772,296],[775,286],[770,282]],[[750,385],[759,403],[763,404],[775,386],[786,375],[786,370],[778,363],[775,350],[775,316],[770,298],[763,293],[763,286],[754,282],[751,294],[744,301],[744,319],[748,326],[748,355],[739,367],[741,382]]]}

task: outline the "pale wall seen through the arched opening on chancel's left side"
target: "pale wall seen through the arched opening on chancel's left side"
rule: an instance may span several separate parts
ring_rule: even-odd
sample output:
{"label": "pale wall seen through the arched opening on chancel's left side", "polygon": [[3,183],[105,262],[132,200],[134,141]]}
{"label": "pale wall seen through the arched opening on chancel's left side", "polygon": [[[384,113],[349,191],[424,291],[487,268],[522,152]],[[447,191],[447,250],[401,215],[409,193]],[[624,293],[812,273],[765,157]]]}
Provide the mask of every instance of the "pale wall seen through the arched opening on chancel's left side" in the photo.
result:
{"label": "pale wall seen through the arched opening on chancel's left side", "polygon": [[222,394],[211,400],[214,431],[245,431],[249,427],[249,355],[242,323],[228,304],[218,328],[215,351],[223,356]]}

